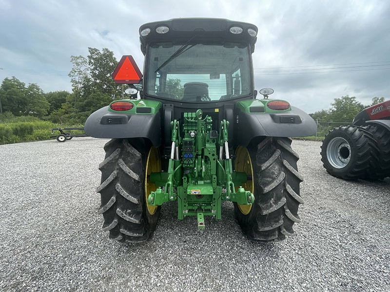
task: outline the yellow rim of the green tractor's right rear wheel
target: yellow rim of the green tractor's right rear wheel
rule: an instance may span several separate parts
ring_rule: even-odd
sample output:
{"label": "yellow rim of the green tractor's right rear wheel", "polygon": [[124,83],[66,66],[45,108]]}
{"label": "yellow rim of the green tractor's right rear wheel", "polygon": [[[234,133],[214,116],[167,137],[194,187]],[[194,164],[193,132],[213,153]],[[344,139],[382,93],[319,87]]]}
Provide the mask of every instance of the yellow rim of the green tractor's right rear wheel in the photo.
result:
{"label": "yellow rim of the green tractor's right rear wheel", "polygon": [[[238,172],[245,172],[251,180],[248,180],[246,183],[242,184],[242,187],[246,191],[250,191],[252,194],[254,193],[254,183],[253,183],[253,167],[251,156],[249,155],[248,149],[242,146],[238,146],[235,150],[235,161],[234,161],[234,169]],[[248,215],[251,212],[252,205],[240,205],[238,204],[238,209],[240,209],[241,213],[244,215]]]}

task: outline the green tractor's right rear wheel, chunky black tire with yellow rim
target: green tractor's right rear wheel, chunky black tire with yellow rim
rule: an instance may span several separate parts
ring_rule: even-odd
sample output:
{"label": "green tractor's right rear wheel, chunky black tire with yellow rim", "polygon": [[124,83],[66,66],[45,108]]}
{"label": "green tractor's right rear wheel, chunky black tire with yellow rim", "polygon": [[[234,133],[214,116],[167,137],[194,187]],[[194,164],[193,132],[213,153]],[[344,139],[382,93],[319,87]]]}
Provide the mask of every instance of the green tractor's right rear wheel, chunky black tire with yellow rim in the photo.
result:
{"label": "green tractor's right rear wheel, chunky black tire with yellow rim", "polygon": [[[298,154],[291,148],[290,138],[266,137],[247,148],[238,146],[235,171],[246,172],[243,187],[254,193],[253,205],[234,203],[235,216],[242,231],[253,241],[280,241],[292,235],[292,225],[300,222],[298,206]],[[252,178],[252,179],[251,179]]]}

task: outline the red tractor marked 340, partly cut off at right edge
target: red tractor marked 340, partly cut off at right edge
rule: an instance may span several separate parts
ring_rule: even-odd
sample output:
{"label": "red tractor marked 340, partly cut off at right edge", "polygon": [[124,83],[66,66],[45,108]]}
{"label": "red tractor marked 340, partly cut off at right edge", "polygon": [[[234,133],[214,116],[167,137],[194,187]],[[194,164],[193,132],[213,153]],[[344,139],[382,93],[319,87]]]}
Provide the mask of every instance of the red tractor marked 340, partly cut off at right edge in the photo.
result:
{"label": "red tractor marked 340, partly cut off at right edge", "polygon": [[344,180],[390,176],[390,100],[362,110],[351,126],[334,128],[321,146],[326,170]]}

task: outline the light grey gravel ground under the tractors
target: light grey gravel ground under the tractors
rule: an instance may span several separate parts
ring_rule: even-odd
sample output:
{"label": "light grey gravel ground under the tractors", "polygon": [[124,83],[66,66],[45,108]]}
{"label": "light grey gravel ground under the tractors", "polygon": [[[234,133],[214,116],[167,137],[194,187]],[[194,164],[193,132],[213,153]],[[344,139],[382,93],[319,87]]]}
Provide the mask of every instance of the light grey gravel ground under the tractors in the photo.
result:
{"label": "light grey gravel ground under the tractors", "polygon": [[230,202],[198,231],[167,203],[152,240],[126,245],[97,214],[106,141],[0,146],[0,290],[390,291],[389,178],[333,178],[321,143],[294,141],[305,204],[293,236],[248,241]]}

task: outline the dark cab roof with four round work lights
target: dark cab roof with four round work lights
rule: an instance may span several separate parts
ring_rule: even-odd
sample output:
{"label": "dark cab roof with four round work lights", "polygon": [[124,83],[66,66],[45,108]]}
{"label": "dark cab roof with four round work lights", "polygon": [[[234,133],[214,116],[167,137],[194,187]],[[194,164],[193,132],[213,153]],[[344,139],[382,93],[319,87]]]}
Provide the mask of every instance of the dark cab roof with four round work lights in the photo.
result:
{"label": "dark cab roof with four round work lights", "polygon": [[[161,28],[163,27],[163,28]],[[164,31],[165,33],[157,33]],[[232,30],[240,33],[232,33]],[[248,30],[252,30],[251,36]],[[255,33],[253,33],[253,31]],[[142,33],[144,32],[144,33]],[[145,34],[146,32],[149,32]],[[142,33],[142,34],[141,34]],[[224,42],[245,42],[251,45],[254,52],[257,27],[251,23],[232,21],[222,18],[173,18],[170,20],[149,22],[139,28],[141,51],[145,55],[146,46],[151,42],[188,41],[192,37],[202,40],[219,40]]]}

